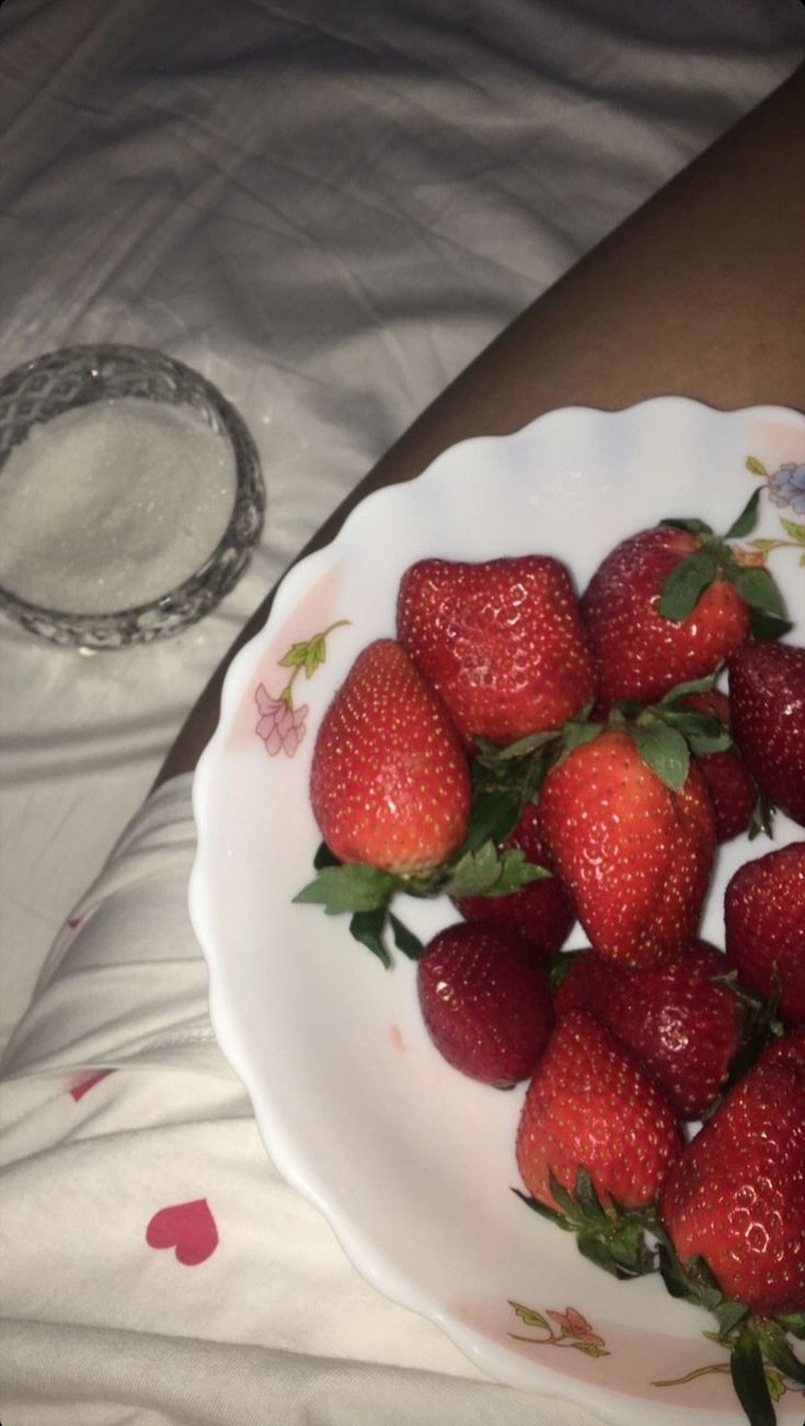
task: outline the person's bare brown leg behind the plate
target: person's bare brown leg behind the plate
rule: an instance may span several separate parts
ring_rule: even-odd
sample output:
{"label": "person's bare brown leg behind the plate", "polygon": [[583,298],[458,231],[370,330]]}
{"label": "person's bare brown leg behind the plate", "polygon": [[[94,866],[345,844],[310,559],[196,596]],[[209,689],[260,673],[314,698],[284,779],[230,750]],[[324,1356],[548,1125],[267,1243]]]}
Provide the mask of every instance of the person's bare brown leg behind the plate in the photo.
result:
{"label": "person's bare brown leg behind the plate", "polygon": [[[466,436],[567,405],[682,395],[720,408],[805,408],[805,68],[550,288],[433,402],[321,526],[419,475]],[[232,653],[262,625],[269,595]],[[229,659],[157,783],[192,769]]]}

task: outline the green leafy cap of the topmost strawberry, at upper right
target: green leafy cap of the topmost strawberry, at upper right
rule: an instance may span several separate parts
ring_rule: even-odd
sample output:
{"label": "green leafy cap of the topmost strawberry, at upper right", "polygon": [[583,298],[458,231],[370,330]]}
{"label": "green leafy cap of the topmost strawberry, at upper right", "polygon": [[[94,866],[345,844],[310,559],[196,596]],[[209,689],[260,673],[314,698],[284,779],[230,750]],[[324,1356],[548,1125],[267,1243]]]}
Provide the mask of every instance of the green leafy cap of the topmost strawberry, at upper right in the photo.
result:
{"label": "green leafy cap of the topmost strawberry, at upper right", "polygon": [[761,491],[754,491],[725,535],[717,535],[704,520],[660,520],[664,526],[695,535],[698,542],[698,549],[681,559],[663,585],[658,609],[664,619],[681,623],[692,613],[704,590],[721,576],[747,603],[755,639],[779,639],[794,627],[786,619],[782,595],[768,569],[741,563],[728,543],[732,539],[742,539],[755,529],[759,498]]}

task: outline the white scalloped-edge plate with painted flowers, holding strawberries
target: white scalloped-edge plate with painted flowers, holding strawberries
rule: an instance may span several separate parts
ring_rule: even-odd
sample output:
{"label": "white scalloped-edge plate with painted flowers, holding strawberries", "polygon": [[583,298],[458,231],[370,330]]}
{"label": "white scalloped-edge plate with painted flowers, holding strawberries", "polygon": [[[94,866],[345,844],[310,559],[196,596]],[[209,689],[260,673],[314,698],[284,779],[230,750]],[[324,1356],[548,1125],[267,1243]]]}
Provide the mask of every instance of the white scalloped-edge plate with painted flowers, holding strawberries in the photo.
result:
{"label": "white scalloped-edge plate with painted flowers, holding strawberries", "polygon": [[[550,553],[583,589],[625,535],[692,515],[725,530],[762,485],[755,535],[785,542],[769,568],[798,619],[791,639],[805,642],[794,530],[805,522],[802,465],[801,415],[724,414],[680,398],[556,411],[513,436],[455,446],[417,481],[369,496],[332,545],[291,570],[229,670],[195,779],[191,915],[212,1021],[281,1172],[376,1288],[437,1322],[476,1365],[618,1426],[739,1417],[725,1352],[704,1336],[712,1323],[654,1278],[610,1279],[530,1212],[510,1192],[521,1088],[500,1094],[453,1071],[423,1030],[415,967],[398,957],[385,971],[345,917],[292,904],[319,841],[311,754],[358,652],[393,635],[399,578],[423,556]],[[299,670],[294,716],[276,727],[272,700],[294,672],[281,660],[336,623],[326,662],[311,679]],[[781,819],[775,846],[798,836]],[[721,851],[704,923],[717,944],[727,878],[764,850],[741,840]],[[406,901],[405,920],[426,937],[455,914],[443,901]],[[782,1395],[778,1420],[801,1426],[799,1393]]]}

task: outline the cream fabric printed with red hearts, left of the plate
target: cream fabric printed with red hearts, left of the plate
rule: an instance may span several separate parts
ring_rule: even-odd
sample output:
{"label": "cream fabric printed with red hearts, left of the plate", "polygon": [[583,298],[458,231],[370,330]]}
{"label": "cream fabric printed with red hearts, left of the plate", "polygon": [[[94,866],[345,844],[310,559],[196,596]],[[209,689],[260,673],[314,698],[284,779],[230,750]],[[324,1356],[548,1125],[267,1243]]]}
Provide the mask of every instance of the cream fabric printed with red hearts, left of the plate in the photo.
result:
{"label": "cream fabric printed with red hearts, left of the plate", "polygon": [[266,1159],[207,1015],[189,781],[135,817],[6,1054],[3,1426],[587,1426],[482,1385]]}

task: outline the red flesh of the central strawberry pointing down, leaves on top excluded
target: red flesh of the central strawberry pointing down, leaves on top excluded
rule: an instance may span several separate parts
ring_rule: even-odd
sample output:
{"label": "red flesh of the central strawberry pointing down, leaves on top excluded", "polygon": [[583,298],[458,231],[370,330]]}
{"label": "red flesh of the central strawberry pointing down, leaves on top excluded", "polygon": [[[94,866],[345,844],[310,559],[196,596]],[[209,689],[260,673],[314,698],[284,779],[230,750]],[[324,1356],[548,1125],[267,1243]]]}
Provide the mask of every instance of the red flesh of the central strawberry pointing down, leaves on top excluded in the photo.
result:
{"label": "red flesh of the central strawberry pointing down, leaves on top excluded", "polygon": [[628,733],[606,729],[547,773],[540,816],[600,955],[640,968],[685,950],[715,850],[712,804],[695,766],[675,793],[645,766]]}

